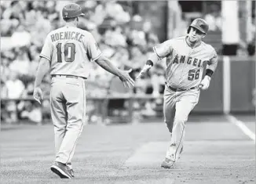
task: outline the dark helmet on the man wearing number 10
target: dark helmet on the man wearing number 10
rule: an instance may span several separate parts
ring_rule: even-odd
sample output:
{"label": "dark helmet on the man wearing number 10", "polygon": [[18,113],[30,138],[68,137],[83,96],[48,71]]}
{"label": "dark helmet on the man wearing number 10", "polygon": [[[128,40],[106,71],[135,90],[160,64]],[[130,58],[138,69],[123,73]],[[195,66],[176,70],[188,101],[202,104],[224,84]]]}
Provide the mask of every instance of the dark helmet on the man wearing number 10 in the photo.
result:
{"label": "dark helmet on the man wearing number 10", "polygon": [[84,16],[82,13],[82,8],[80,5],[71,3],[65,5],[62,9],[62,17],[63,18],[75,18],[76,16]]}

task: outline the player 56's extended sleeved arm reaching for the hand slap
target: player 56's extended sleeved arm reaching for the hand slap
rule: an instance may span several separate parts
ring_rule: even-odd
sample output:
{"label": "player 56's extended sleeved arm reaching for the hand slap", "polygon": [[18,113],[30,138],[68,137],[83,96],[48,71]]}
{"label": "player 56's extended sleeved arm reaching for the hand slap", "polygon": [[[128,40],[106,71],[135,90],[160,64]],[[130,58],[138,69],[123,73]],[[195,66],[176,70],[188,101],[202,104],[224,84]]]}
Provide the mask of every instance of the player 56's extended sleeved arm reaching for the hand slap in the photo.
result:
{"label": "player 56's extended sleeved arm reaching for the hand slap", "polygon": [[136,80],[150,70],[156,61],[162,60],[170,55],[170,52],[172,52],[171,41],[164,41],[163,43],[156,45],[153,49],[154,53],[148,57],[147,62],[144,64],[144,67],[142,67],[140,74],[137,75]]}

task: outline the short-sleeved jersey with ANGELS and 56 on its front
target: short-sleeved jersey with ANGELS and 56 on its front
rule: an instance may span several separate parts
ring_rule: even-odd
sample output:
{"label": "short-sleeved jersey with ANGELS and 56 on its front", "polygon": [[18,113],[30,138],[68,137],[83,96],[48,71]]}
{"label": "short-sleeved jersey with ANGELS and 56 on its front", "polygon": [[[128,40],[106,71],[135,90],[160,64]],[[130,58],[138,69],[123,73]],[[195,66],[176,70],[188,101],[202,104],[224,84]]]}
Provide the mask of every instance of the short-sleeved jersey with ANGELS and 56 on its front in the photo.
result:
{"label": "short-sleeved jersey with ANGELS and 56 on its front", "polygon": [[154,47],[159,60],[166,57],[166,82],[174,88],[192,88],[200,84],[204,64],[217,57],[215,49],[201,42],[191,48],[186,36],[173,38]]}

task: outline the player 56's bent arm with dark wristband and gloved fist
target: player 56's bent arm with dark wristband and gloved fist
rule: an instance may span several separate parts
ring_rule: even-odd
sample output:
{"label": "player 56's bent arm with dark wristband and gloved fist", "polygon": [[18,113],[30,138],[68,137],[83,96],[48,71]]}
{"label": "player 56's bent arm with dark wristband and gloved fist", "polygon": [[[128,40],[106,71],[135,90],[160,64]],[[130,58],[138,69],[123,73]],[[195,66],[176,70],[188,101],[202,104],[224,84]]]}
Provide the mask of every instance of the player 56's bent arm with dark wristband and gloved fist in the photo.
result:
{"label": "player 56's bent arm with dark wristband and gloved fist", "polygon": [[201,81],[199,88],[201,88],[203,90],[206,90],[207,88],[209,88],[210,79],[211,79],[212,75],[214,74],[214,71],[217,68],[217,65],[218,65],[218,56],[217,56],[217,53],[214,51],[214,56],[207,63],[206,74],[205,74],[203,80]]}

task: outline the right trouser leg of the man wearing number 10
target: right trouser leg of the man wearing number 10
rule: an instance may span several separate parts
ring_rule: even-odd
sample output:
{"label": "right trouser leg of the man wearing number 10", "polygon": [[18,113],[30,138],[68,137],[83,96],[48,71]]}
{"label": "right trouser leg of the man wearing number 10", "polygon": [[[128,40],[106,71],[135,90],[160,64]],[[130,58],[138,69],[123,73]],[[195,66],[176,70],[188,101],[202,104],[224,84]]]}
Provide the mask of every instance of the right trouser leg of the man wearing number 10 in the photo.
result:
{"label": "right trouser leg of the man wearing number 10", "polygon": [[[67,90],[68,89],[68,90]],[[86,89],[82,78],[67,78],[64,85],[64,98],[67,100],[68,124],[56,161],[71,163],[75,146],[86,121]]]}

